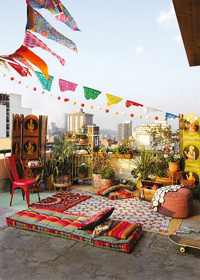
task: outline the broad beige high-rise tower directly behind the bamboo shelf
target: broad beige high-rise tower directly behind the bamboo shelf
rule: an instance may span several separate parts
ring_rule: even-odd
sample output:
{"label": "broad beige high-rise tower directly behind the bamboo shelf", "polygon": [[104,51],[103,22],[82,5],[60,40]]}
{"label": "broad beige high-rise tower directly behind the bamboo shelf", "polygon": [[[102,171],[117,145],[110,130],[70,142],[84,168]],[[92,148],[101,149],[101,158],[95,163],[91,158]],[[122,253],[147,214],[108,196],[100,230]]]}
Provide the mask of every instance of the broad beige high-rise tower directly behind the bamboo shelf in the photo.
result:
{"label": "broad beige high-rise tower directly behind the bamboo shelf", "polygon": [[68,113],[68,131],[79,133],[82,124],[93,125],[93,114],[83,112],[83,109],[77,109],[76,113]]}

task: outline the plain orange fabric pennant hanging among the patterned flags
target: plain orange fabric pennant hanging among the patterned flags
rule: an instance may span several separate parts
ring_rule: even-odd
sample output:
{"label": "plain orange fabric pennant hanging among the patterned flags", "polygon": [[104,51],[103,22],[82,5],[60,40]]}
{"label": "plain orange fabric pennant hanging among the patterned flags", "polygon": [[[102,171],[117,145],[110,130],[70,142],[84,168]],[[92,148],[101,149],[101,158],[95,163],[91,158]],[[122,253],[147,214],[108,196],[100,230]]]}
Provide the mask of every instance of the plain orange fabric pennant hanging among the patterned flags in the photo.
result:
{"label": "plain orange fabric pennant hanging among the patterned flags", "polygon": [[41,70],[42,74],[47,78],[47,80],[50,81],[47,64],[35,53],[33,53],[31,50],[29,50],[27,47],[24,47],[23,45],[15,53],[21,54],[32,64],[37,66]]}

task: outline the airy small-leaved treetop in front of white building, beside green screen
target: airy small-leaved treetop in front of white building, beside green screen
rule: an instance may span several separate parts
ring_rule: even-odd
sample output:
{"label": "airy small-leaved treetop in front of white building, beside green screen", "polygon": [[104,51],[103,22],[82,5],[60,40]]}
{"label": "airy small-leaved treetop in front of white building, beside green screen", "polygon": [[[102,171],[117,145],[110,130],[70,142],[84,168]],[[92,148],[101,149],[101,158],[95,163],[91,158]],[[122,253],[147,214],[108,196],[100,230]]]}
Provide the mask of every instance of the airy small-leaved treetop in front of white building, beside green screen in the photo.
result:
{"label": "airy small-leaved treetop in front of white building, beside green screen", "polygon": [[155,128],[147,129],[147,132],[152,136],[153,147],[161,145],[167,147],[171,142],[179,141],[179,130],[172,132],[170,127],[162,128],[162,125],[157,125]]}

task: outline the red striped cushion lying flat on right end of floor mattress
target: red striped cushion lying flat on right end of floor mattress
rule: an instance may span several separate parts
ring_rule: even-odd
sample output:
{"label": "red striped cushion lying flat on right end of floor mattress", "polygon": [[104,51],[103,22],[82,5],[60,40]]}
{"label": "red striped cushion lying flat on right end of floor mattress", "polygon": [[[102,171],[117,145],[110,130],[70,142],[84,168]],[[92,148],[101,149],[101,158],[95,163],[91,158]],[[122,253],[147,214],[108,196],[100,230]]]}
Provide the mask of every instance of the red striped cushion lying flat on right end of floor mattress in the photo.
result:
{"label": "red striped cushion lying flat on right end of floor mattress", "polygon": [[104,233],[106,236],[117,237],[119,239],[126,239],[137,227],[136,224],[125,221],[116,221],[111,229]]}

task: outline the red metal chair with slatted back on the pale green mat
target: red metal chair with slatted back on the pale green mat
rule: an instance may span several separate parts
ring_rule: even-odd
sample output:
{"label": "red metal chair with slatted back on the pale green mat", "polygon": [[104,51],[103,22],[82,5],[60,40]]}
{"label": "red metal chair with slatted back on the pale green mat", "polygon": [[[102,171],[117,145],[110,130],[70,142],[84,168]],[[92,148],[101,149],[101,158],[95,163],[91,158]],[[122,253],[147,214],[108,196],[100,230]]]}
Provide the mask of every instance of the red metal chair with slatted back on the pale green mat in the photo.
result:
{"label": "red metal chair with slatted back on the pale green mat", "polygon": [[[21,164],[22,164],[22,169],[23,169],[23,172],[25,174],[26,179],[19,179],[19,176],[17,174],[16,162],[15,162],[16,158],[19,159]],[[8,170],[6,159],[8,159],[8,163],[9,163],[9,166],[10,166],[10,171],[11,171],[11,174],[12,174],[12,177],[13,177],[14,181],[12,180],[11,174],[10,174],[10,172]],[[22,188],[23,200],[24,200],[24,196],[26,195],[26,201],[27,201],[27,204],[28,204],[28,207],[29,207],[29,190],[30,190],[31,186],[36,185],[37,193],[38,193],[38,197],[39,197],[39,201],[40,201],[40,195],[39,195],[37,180],[35,180],[35,179],[27,179],[27,175],[25,173],[24,166],[23,166],[21,158],[18,157],[18,156],[6,157],[4,159],[4,164],[5,164],[5,167],[6,167],[7,171],[8,171],[8,175],[9,175],[11,181],[12,181],[12,195],[11,195],[11,200],[10,200],[10,206],[12,205],[13,192],[14,192],[14,189],[16,187],[21,187]]]}

